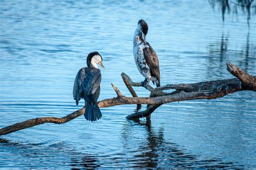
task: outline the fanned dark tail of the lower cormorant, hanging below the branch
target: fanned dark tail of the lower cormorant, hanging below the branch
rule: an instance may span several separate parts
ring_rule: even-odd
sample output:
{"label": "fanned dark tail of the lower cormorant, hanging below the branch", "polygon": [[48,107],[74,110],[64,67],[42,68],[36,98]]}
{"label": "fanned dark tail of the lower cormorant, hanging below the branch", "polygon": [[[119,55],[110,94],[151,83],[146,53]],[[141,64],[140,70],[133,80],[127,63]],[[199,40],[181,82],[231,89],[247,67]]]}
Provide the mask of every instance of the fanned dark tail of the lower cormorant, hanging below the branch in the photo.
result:
{"label": "fanned dark tail of the lower cormorant, hanging below the branch", "polygon": [[84,117],[87,121],[95,122],[102,117],[97,103],[87,103],[85,107]]}

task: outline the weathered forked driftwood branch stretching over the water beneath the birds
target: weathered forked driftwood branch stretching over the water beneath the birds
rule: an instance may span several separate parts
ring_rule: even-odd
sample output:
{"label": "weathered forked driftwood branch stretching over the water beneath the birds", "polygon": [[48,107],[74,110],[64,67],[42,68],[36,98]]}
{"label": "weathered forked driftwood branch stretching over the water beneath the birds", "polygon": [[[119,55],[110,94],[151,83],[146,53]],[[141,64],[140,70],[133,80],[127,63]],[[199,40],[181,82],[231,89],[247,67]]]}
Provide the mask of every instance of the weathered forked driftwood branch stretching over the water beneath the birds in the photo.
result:
{"label": "weathered forked driftwood branch stretching over the water beneath the birds", "polygon": [[[127,116],[127,118],[140,118],[147,117],[152,114],[161,104],[178,102],[185,100],[198,100],[198,99],[212,99],[223,97],[227,94],[234,93],[241,90],[253,90],[256,91],[255,77],[248,75],[232,63],[227,63],[227,70],[231,72],[238,79],[228,80],[216,80],[199,82],[193,84],[169,84],[153,88],[150,85],[146,87],[151,91],[150,97],[138,97],[132,86],[140,86],[140,83],[133,82],[129,76],[122,73],[122,78],[129,89],[133,97],[125,97],[122,93],[112,84],[114,91],[117,93],[117,97],[105,99],[98,102],[100,108],[112,107],[114,105],[123,104],[149,104],[144,111],[139,111]],[[164,92],[163,90],[176,89],[172,93]],[[28,121],[16,123],[5,128],[0,129],[0,135],[12,133],[18,130],[30,128],[44,123],[62,124],[71,121],[84,114],[85,108],[79,109],[70,115],[62,118],[57,117],[39,117],[29,119]]]}

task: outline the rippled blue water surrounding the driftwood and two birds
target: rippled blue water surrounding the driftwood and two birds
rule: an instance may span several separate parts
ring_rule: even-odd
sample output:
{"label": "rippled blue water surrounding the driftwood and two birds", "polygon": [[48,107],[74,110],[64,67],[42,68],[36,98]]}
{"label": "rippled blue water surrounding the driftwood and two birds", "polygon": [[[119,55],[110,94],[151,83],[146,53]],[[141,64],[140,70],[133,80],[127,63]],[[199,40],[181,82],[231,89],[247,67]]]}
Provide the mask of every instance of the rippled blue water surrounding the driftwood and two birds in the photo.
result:
{"label": "rippled blue water surrounding the driftwood and two birds", "polygon": [[[62,117],[82,108],[73,81],[89,52],[99,51],[99,100],[131,96],[120,74],[143,81],[133,61],[139,19],[159,57],[161,84],[231,79],[231,61],[256,75],[256,20],[226,16],[207,1],[1,1],[0,128],[26,119]],[[134,88],[148,96],[144,88]],[[0,168],[256,168],[256,93],[164,104],[150,119],[125,117],[136,105],[0,138]],[[143,107],[145,109],[145,106]]]}

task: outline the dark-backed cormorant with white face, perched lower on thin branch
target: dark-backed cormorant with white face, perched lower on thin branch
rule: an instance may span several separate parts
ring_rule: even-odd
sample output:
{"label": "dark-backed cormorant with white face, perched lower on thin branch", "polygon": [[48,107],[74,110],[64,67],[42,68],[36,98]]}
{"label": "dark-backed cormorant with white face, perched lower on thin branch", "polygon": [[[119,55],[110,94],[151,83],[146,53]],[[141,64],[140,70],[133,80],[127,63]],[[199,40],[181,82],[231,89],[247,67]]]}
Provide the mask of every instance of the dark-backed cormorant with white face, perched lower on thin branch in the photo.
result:
{"label": "dark-backed cormorant with white face, perched lower on thin branch", "polygon": [[91,122],[97,121],[102,117],[102,112],[97,104],[102,74],[100,74],[97,63],[105,69],[102,64],[102,56],[98,52],[88,54],[87,67],[83,67],[78,71],[73,87],[73,97],[76,104],[78,105],[78,101],[81,98],[84,99],[84,117]]}

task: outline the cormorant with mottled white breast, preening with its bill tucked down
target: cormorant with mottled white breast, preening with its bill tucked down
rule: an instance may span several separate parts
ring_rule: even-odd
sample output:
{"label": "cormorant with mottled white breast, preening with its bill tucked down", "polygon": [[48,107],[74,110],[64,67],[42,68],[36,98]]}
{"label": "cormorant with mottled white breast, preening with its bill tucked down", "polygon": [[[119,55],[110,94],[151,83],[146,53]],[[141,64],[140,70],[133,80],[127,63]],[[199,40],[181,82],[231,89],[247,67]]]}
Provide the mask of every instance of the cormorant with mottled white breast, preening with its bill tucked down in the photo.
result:
{"label": "cormorant with mottled white breast, preening with its bill tucked down", "polygon": [[156,52],[146,41],[149,30],[145,20],[140,19],[133,37],[133,56],[140,74],[145,77],[141,83],[146,87],[150,80],[160,86],[159,61]]}

